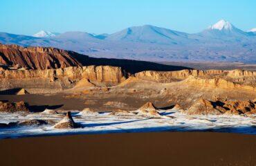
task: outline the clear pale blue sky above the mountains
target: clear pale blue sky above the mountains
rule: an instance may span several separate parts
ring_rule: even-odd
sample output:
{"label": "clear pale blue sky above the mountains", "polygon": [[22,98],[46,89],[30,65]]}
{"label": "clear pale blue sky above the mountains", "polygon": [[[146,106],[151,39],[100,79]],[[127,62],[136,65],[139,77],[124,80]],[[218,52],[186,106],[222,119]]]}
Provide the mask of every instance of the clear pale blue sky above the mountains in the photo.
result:
{"label": "clear pale blue sky above the mountains", "polygon": [[1,0],[0,7],[0,32],[24,35],[114,33],[145,24],[198,33],[220,19],[256,28],[255,0]]}

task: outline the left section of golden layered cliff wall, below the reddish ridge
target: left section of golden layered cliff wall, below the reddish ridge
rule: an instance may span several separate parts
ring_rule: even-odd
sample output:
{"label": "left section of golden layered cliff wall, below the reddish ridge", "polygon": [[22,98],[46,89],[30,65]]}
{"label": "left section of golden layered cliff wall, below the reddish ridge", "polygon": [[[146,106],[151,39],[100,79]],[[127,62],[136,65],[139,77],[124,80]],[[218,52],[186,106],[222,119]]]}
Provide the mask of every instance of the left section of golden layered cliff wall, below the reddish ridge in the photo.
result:
{"label": "left section of golden layered cliff wall, below the reddish ridge", "polygon": [[0,90],[24,88],[29,93],[57,92],[71,89],[87,79],[93,84],[113,86],[124,81],[128,73],[120,67],[83,66],[46,70],[7,70],[0,68]]}

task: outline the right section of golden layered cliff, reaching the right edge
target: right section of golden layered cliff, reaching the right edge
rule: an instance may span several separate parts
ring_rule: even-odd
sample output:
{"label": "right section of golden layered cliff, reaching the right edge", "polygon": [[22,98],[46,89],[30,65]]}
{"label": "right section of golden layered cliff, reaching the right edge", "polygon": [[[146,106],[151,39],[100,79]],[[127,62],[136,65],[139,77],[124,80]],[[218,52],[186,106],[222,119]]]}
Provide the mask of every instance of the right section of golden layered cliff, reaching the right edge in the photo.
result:
{"label": "right section of golden layered cliff, reaching the right edge", "polygon": [[245,89],[256,91],[256,72],[255,71],[143,71],[135,74],[136,78],[153,82],[177,82],[183,81],[185,84],[193,86],[209,86],[211,88],[222,89]]}

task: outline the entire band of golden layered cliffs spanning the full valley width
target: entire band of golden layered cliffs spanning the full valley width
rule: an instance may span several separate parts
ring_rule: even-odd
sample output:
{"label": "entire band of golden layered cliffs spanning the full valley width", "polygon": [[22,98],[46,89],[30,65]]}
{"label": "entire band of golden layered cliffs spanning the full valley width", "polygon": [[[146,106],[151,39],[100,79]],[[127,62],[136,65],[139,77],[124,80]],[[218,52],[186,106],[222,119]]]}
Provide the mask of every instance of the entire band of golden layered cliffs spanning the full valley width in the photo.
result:
{"label": "entire band of golden layered cliffs spanning the full valley width", "polygon": [[[42,89],[43,91],[60,91],[71,89],[82,79],[88,80],[95,85],[113,86],[119,84],[129,77],[129,73],[120,67],[114,66],[83,66],[53,68],[46,70],[9,70],[0,68],[0,89],[24,88],[30,89],[29,93]],[[244,89],[256,91],[256,72],[253,71],[143,71],[136,73],[133,77],[138,80],[149,80],[152,82],[177,82],[192,86],[208,86],[220,89]]]}

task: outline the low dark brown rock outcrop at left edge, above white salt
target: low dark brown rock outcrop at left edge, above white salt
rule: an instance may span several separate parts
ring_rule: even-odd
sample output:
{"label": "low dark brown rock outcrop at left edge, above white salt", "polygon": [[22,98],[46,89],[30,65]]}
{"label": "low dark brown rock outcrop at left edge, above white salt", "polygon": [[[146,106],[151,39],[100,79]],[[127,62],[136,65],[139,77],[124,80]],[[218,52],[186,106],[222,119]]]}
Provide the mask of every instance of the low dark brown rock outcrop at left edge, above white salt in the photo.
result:
{"label": "low dark brown rock outcrop at left edge, above white salt", "polygon": [[0,111],[14,113],[18,111],[28,112],[28,104],[26,102],[0,102]]}

